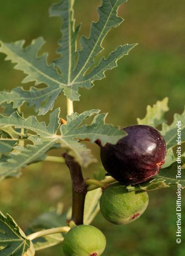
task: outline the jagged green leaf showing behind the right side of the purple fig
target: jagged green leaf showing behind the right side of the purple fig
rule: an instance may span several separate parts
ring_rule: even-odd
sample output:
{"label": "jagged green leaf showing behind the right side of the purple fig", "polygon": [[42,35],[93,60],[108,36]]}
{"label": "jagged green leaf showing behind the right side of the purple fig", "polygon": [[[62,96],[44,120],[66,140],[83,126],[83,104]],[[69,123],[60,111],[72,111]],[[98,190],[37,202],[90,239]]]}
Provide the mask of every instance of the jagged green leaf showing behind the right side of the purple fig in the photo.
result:
{"label": "jagged green leaf showing behind the right side of the purple fig", "polygon": [[[153,107],[147,107],[147,114],[144,119],[137,119],[139,124],[152,125],[156,127],[162,124],[160,133],[163,135],[166,142],[167,155],[165,164],[162,165],[160,172],[150,180],[137,185],[129,185],[127,189],[132,190],[156,190],[160,188],[169,187],[171,184],[180,184],[181,188],[185,187],[185,155],[183,150],[183,143],[185,142],[185,111],[182,114],[174,114],[173,122],[167,125],[164,119],[164,113],[168,111],[168,99],[164,98],[162,101],[157,101]],[[180,128],[177,124],[180,121]],[[179,133],[179,134],[178,134]],[[178,144],[178,136],[180,135],[180,145]],[[181,147],[181,158],[177,162],[177,154],[174,154],[174,147]],[[181,166],[181,167],[180,167]],[[178,178],[178,168],[181,169],[181,177]]]}

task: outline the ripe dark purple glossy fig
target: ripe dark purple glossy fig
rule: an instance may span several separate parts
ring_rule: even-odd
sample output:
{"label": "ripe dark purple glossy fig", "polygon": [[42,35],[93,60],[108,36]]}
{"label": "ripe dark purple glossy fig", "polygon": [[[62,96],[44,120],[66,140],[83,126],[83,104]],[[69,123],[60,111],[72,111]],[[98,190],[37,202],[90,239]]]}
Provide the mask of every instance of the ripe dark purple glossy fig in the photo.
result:
{"label": "ripe dark purple glossy fig", "polygon": [[153,127],[134,125],[123,128],[128,135],[116,145],[100,146],[102,164],[123,185],[142,183],[156,175],[165,162],[166,143]]}

